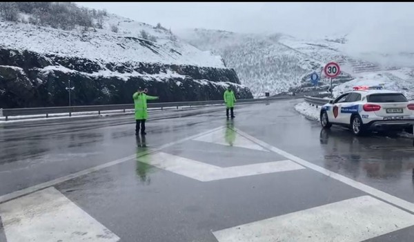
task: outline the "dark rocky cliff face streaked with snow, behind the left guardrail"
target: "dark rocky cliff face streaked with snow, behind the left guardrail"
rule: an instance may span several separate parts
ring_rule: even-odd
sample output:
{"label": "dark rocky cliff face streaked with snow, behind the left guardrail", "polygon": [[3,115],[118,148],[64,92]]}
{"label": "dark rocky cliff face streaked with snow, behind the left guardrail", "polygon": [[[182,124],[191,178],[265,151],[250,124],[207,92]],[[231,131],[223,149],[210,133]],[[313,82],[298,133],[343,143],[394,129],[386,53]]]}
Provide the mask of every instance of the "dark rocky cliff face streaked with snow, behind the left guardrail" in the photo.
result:
{"label": "dark rocky cliff face streaked with snow, behind the left guardrail", "polygon": [[235,70],[167,63],[113,63],[0,48],[0,108],[131,103],[139,86],[159,101],[222,99],[228,85],[237,98],[253,98]]}

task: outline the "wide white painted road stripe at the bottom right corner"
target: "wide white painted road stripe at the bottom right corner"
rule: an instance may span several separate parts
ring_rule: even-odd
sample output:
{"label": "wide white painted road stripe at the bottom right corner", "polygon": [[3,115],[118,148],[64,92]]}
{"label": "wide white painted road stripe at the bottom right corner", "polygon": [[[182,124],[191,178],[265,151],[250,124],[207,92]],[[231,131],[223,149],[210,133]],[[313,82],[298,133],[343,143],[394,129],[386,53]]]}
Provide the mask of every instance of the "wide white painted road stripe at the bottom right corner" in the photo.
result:
{"label": "wide white painted road stripe at the bottom right corner", "polygon": [[213,232],[219,242],[355,242],[414,225],[414,215],[360,196]]}

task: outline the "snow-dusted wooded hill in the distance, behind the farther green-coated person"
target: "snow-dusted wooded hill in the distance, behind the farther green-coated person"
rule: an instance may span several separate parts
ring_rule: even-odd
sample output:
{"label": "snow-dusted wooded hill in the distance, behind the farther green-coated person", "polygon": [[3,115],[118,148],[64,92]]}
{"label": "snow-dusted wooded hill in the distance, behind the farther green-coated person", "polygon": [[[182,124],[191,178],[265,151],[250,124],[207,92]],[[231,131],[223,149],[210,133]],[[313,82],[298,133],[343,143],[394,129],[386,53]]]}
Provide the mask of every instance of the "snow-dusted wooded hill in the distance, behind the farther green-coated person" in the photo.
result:
{"label": "snow-dusted wooded hill in the distance, behind the farther green-coated person", "polygon": [[188,30],[177,35],[201,50],[223,57],[240,81],[256,95],[277,94],[301,85],[321,63],[279,43],[279,34],[261,36],[216,30]]}

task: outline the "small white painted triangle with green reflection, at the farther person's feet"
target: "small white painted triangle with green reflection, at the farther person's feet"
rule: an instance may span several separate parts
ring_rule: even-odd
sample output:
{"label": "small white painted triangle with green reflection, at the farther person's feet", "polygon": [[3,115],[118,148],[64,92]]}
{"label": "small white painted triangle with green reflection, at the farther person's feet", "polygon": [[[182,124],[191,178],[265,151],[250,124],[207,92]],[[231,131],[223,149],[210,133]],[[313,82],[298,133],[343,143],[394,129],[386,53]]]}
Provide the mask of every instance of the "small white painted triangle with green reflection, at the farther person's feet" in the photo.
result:
{"label": "small white painted triangle with green reflection, at the farther person's feet", "polygon": [[217,130],[193,140],[268,152],[268,150],[262,146],[257,145],[257,143],[250,141],[249,139],[246,139],[242,135],[237,134],[237,132],[229,128],[224,128],[224,130]]}

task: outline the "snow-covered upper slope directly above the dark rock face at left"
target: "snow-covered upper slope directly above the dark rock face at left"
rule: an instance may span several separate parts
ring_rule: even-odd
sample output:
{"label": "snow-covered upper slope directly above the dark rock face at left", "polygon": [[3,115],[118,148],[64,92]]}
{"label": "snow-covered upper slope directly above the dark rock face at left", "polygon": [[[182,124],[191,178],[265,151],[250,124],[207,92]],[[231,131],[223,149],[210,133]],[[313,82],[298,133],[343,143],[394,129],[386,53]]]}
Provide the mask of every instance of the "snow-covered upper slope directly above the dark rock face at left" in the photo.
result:
{"label": "snow-covered upper slope directly above the dark rock face at left", "polygon": [[[117,27],[117,32],[112,32],[112,28],[115,28],[112,26]],[[102,27],[89,28],[88,31],[82,31],[83,28],[61,30],[0,19],[0,48],[110,62],[142,61],[224,67],[221,57],[175,40],[175,36],[164,28],[115,14],[103,17]],[[156,42],[143,39],[142,31],[155,37]]]}

